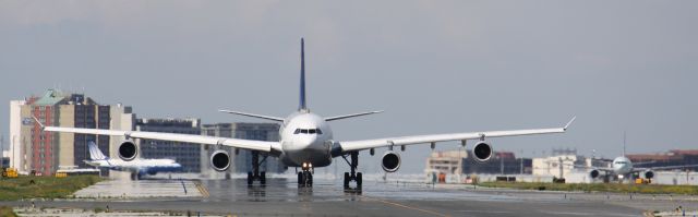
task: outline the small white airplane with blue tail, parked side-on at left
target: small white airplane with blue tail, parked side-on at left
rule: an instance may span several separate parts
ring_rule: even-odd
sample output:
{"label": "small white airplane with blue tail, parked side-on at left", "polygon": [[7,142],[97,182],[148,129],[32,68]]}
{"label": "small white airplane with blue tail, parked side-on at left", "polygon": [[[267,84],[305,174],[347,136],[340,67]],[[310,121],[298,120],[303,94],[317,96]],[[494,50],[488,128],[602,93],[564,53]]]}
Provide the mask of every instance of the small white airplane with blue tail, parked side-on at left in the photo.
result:
{"label": "small white airplane with blue tail, parked side-on at left", "polygon": [[89,149],[89,160],[85,160],[85,164],[116,171],[130,171],[133,180],[141,179],[144,174],[153,176],[158,172],[173,172],[182,169],[182,165],[172,159],[134,159],[128,161],[111,159],[105,156],[93,141],[89,141],[87,147]]}

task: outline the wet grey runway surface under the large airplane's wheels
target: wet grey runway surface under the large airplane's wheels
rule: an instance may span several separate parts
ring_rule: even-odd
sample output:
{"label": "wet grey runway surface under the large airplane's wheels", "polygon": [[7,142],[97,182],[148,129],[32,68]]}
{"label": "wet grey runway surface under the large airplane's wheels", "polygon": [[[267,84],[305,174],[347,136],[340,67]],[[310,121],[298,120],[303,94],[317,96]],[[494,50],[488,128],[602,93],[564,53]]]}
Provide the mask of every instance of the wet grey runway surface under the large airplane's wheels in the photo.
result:
{"label": "wet grey runway surface under the large airplane's wheels", "polygon": [[[144,188],[151,186],[151,188]],[[157,186],[157,188],[153,188]],[[125,189],[139,189],[133,196]],[[186,196],[176,195],[184,194]],[[156,195],[164,189],[170,196]],[[180,190],[181,189],[181,190]],[[109,193],[112,191],[112,193]],[[153,193],[148,193],[153,191]],[[196,191],[192,193],[193,191]],[[201,212],[233,216],[641,216],[645,210],[677,206],[698,207],[691,197],[629,197],[623,194],[586,194],[472,189],[468,185],[384,183],[364,181],[361,193],[345,192],[338,180],[316,180],[312,189],[287,179],[269,179],[266,186],[249,188],[245,180],[151,180],[131,184],[107,182],[82,192],[100,192],[99,198],[36,201],[38,207],[111,210]],[[29,206],[32,202],[1,202]]]}

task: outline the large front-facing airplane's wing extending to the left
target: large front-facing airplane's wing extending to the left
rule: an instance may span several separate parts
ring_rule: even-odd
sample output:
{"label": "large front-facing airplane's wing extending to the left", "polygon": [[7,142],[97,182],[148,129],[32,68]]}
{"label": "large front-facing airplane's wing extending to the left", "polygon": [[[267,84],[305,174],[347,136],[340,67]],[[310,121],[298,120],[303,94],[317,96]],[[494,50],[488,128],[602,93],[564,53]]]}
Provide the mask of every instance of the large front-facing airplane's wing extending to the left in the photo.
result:
{"label": "large front-facing airplane's wing extending to the left", "polygon": [[207,145],[224,145],[243,149],[272,152],[272,149],[280,150],[281,144],[278,142],[266,141],[251,141],[230,137],[216,137],[206,135],[191,135],[191,134],[177,134],[177,133],[158,133],[158,132],[143,132],[143,131],[118,131],[118,130],[103,130],[103,129],[83,129],[83,128],[59,128],[59,126],[46,126],[38,119],[34,118],[41,126],[41,130],[48,132],[61,132],[61,133],[82,133],[94,135],[111,135],[111,136],[124,136],[130,138],[145,138],[145,140],[158,140],[158,141],[172,141],[182,143],[198,143]]}

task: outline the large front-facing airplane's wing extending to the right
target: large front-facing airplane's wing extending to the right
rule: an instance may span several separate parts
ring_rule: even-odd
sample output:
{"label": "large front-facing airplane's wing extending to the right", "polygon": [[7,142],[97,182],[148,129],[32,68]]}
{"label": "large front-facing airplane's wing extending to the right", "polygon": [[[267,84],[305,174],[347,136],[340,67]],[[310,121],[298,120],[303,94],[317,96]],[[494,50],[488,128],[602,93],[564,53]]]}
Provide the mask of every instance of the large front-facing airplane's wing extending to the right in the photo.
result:
{"label": "large front-facing airplane's wing extending to the right", "polygon": [[515,130],[515,131],[485,131],[485,132],[471,132],[471,133],[386,137],[386,138],[376,138],[376,140],[365,140],[365,141],[346,141],[346,142],[339,142],[339,147],[341,148],[341,153],[348,153],[348,152],[356,152],[356,150],[370,149],[370,148],[376,148],[376,147],[414,145],[414,144],[436,143],[436,142],[446,142],[446,141],[466,141],[466,140],[476,140],[476,138],[484,138],[484,137],[564,133],[565,131],[567,131],[567,128],[569,128],[569,124],[571,124],[571,122],[575,121],[575,118],[569,120],[569,122],[567,122],[567,124],[565,124],[565,126],[563,128]]}

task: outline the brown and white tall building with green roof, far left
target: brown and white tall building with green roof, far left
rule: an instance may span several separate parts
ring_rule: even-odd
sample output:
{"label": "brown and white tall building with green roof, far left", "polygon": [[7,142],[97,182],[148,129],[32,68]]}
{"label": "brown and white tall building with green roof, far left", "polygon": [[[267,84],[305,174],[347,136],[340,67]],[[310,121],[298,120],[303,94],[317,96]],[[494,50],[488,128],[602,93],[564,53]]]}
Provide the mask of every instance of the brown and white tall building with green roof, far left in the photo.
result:
{"label": "brown and white tall building with green roof, far left", "polygon": [[87,142],[94,141],[109,155],[109,136],[43,132],[32,117],[46,125],[110,129],[110,106],[83,94],[49,89],[39,97],[10,103],[12,167],[20,171],[52,174],[59,166],[88,167]]}

